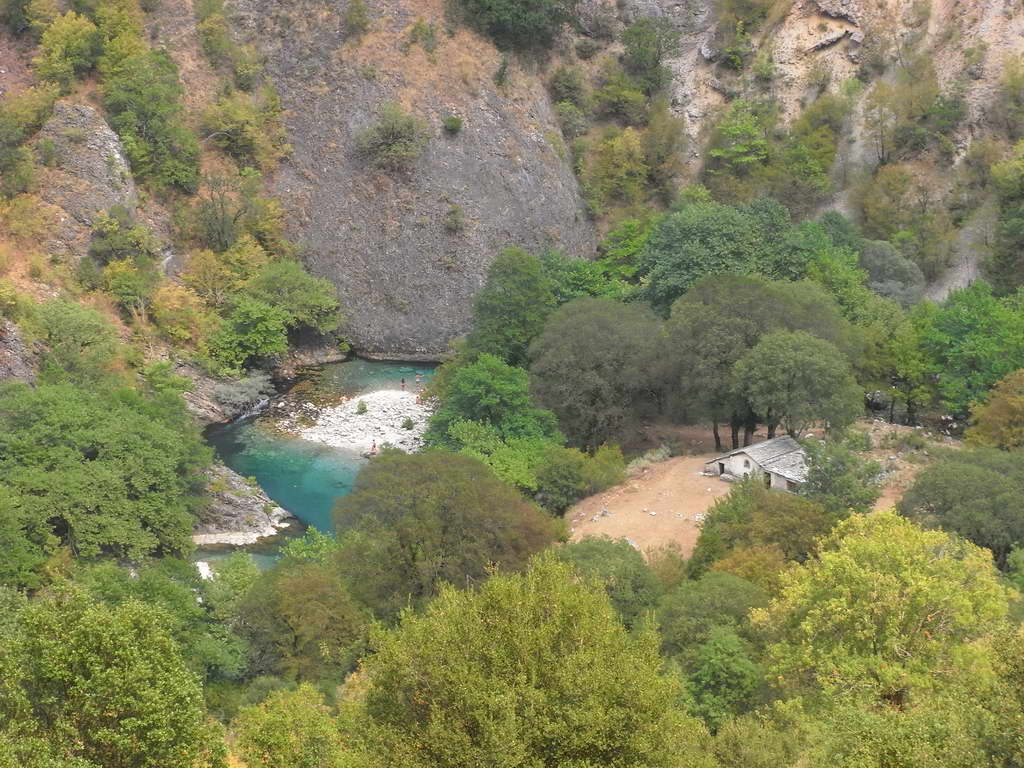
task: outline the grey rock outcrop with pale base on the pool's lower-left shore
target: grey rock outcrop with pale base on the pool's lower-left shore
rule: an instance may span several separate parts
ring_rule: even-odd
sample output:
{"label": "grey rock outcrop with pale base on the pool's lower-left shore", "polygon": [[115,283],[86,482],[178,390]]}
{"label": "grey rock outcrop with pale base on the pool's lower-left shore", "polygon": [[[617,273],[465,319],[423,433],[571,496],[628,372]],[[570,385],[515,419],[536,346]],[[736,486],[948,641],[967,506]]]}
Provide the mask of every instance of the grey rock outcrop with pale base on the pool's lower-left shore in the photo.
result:
{"label": "grey rock outcrop with pale base on the pool's lower-left shore", "polygon": [[259,486],[223,465],[211,467],[209,479],[210,504],[193,532],[198,546],[255,544],[295,521]]}

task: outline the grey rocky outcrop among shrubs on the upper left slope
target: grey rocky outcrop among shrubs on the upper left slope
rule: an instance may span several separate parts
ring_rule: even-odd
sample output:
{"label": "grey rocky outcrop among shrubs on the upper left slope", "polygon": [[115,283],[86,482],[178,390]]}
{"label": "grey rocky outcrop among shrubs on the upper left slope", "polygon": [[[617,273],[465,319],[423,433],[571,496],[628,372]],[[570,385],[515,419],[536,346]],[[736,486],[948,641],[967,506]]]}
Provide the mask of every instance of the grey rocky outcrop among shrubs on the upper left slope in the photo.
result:
{"label": "grey rocky outcrop among shrubs on the upper left slope", "polygon": [[91,106],[62,102],[35,142],[42,157],[53,157],[52,167],[41,174],[39,195],[62,211],[46,249],[77,263],[88,252],[97,215],[115,205],[135,205],[124,146]]}

